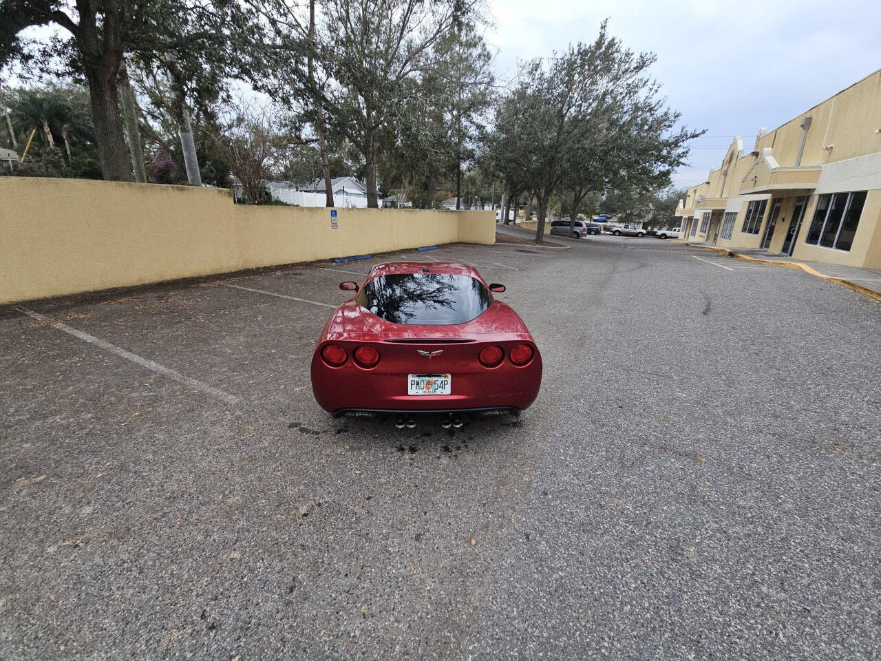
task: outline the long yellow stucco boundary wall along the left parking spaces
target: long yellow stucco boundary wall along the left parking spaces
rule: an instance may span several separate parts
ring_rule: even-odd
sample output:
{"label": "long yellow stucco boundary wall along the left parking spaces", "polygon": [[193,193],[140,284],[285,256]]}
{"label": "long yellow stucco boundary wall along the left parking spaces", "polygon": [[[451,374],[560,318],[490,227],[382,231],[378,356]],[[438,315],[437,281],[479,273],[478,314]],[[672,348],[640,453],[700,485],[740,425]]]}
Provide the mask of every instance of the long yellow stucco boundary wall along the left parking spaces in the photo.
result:
{"label": "long yellow stucco boundary wall along the left parking spaces", "polygon": [[463,241],[493,212],[233,204],[228,190],[0,178],[0,303]]}

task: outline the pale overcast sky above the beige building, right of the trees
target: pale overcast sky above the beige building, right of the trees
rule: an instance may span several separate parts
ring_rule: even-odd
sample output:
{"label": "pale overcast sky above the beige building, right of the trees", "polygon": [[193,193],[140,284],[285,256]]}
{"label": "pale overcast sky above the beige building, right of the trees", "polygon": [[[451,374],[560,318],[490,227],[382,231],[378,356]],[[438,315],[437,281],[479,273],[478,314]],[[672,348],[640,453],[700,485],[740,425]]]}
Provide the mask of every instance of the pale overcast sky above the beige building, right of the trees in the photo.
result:
{"label": "pale overcast sky above the beige building, right of the trees", "polygon": [[785,123],[881,69],[881,2],[864,0],[489,0],[487,39],[500,74],[569,42],[593,41],[600,22],[629,48],[657,55],[652,70],[695,140],[674,176],[692,185],[719,167],[734,136],[749,150],[761,127]]}

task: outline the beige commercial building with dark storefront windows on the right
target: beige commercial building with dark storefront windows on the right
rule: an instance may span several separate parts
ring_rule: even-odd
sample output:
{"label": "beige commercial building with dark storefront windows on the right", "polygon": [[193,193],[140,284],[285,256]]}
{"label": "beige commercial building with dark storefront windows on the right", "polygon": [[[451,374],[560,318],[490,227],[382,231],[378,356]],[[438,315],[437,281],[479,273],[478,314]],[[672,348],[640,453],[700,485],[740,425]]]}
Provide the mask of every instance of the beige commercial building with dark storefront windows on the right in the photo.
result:
{"label": "beige commercial building with dark storefront windows on the right", "polygon": [[881,71],[750,152],[735,138],[676,215],[687,241],[881,269]]}

